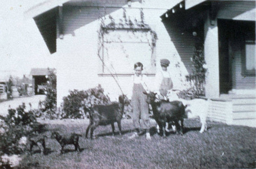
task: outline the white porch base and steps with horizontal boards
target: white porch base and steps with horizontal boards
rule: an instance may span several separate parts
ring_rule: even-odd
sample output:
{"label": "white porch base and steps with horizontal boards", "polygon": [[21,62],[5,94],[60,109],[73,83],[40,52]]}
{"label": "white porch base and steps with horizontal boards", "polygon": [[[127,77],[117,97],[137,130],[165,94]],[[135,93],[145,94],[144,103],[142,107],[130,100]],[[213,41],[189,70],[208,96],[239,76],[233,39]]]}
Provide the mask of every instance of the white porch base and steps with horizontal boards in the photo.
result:
{"label": "white porch base and steps with horizontal boards", "polygon": [[251,94],[229,93],[211,98],[208,118],[229,125],[256,127],[255,99],[255,90]]}

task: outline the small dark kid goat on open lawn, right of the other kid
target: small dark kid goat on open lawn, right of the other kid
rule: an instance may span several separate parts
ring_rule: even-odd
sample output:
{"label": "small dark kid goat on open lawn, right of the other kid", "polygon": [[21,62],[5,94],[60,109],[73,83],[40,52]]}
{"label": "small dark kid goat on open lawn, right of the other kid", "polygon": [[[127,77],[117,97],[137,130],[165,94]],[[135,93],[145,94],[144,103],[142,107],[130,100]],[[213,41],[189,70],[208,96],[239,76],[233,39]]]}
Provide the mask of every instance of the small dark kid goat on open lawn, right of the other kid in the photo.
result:
{"label": "small dark kid goat on open lawn, right of the other kid", "polygon": [[78,144],[79,136],[82,136],[82,135],[72,133],[69,137],[67,137],[67,136],[60,135],[57,131],[54,131],[54,132],[52,132],[51,138],[55,138],[59,142],[59,144],[61,146],[60,153],[62,154],[63,153],[63,148],[64,148],[65,145],[74,145],[75,150],[77,152],[80,152],[80,147],[79,147],[79,144]]}

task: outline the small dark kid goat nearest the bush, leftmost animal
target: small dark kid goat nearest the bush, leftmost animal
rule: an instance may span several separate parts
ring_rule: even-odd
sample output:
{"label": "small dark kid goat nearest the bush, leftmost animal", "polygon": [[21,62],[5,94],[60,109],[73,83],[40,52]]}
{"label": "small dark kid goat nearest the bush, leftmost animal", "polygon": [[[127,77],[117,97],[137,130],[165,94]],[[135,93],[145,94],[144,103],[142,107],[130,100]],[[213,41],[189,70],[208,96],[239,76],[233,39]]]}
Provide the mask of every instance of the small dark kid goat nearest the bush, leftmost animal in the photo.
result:
{"label": "small dark kid goat nearest the bush, leftmost animal", "polygon": [[45,142],[45,138],[47,138],[46,135],[37,137],[37,138],[29,138],[29,152],[30,154],[32,154],[32,149],[33,146],[37,146],[40,151],[41,154],[45,154],[46,153],[46,142]]}

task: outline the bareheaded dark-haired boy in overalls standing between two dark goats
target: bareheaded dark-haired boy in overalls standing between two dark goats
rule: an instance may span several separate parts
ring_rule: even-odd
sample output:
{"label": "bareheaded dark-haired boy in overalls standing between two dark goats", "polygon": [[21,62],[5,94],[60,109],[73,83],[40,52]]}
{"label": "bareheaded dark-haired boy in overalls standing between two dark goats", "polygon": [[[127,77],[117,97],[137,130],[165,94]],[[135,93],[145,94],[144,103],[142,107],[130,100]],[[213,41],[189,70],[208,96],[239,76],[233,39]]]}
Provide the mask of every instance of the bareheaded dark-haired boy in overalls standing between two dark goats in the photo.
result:
{"label": "bareheaded dark-haired boy in overalls standing between two dark goats", "polygon": [[[133,125],[135,131],[129,138],[138,137],[140,128],[141,132],[146,131],[146,139],[151,139],[150,136],[150,118],[148,114],[148,103],[146,102],[147,96],[143,92],[147,91],[147,86],[145,84],[145,76],[142,75],[143,65],[137,62],[134,65],[135,74],[132,76],[133,80],[133,95],[131,99],[131,104],[133,108]],[[141,121],[140,121],[141,119]]]}

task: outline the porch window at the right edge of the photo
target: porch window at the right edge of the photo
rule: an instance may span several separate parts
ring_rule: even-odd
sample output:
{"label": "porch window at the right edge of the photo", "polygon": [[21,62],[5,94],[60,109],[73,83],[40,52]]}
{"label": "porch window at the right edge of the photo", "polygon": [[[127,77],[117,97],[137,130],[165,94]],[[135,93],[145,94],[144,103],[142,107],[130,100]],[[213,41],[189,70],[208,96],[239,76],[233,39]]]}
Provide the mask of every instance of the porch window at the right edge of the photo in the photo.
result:
{"label": "porch window at the right edge of the photo", "polygon": [[242,56],[242,75],[255,75],[255,41],[245,41]]}

